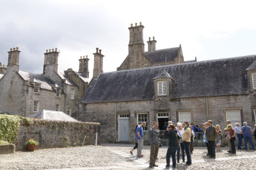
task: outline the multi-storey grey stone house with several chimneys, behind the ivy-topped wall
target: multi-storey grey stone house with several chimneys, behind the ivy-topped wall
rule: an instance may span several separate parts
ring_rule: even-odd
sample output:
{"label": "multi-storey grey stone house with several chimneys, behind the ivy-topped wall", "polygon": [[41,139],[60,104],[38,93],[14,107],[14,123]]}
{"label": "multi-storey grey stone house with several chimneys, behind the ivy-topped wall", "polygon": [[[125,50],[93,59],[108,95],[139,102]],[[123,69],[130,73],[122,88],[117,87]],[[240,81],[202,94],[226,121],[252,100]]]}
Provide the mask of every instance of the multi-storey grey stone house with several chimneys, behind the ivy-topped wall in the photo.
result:
{"label": "multi-storey grey stone house with several chimneys, behind the ivy-topped wall", "polygon": [[43,73],[33,74],[19,70],[19,54],[18,47],[11,48],[7,67],[0,68],[0,111],[27,117],[56,110],[77,117],[77,104],[89,83],[88,57],[79,59],[78,72],[61,71],[57,49],[46,50]]}

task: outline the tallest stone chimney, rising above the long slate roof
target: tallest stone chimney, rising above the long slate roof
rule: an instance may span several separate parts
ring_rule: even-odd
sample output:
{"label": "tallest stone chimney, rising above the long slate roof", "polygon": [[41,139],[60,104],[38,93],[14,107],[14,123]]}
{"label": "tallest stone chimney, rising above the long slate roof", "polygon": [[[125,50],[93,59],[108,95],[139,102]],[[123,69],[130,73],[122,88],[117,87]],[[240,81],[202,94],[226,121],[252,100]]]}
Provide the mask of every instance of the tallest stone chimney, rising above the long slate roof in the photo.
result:
{"label": "tallest stone chimney, rising above the long slate roof", "polygon": [[129,54],[131,54],[134,51],[139,51],[140,53],[144,53],[144,41],[143,41],[143,28],[144,26],[141,24],[133,27],[133,24],[131,24],[131,27],[129,27],[130,32],[130,40],[129,40]]}

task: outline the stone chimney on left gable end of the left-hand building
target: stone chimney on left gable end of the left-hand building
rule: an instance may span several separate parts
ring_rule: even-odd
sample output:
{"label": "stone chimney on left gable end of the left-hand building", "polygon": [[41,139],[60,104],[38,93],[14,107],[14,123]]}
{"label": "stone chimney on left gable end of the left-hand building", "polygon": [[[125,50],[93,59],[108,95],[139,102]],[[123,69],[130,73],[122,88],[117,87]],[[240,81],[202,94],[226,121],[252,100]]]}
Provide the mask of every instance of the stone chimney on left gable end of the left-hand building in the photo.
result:
{"label": "stone chimney on left gable end of the left-hand building", "polygon": [[11,48],[10,52],[8,52],[7,71],[19,71],[19,66],[20,66],[19,58],[20,58],[19,47]]}

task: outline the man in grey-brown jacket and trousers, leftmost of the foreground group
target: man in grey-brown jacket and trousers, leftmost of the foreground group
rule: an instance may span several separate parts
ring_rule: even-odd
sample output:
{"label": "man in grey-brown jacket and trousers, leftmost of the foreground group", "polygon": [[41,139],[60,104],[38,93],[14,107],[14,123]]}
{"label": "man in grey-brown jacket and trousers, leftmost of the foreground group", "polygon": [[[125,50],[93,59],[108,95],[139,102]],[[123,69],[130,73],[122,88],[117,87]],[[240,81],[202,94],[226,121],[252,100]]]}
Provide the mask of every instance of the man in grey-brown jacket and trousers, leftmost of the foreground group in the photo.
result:
{"label": "man in grey-brown jacket and trousers, leftmost of the foreground group", "polygon": [[158,122],[154,122],[154,127],[148,131],[148,143],[150,145],[150,163],[149,167],[156,166],[156,159],[159,150],[159,136]]}

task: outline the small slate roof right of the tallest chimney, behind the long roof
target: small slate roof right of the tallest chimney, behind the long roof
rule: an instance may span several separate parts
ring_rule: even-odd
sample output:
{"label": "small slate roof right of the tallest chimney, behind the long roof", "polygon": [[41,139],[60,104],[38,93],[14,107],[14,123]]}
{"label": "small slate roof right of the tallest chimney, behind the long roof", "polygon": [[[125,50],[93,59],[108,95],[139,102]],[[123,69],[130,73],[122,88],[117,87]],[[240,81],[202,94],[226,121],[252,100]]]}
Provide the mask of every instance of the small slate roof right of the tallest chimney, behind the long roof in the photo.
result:
{"label": "small slate roof right of the tallest chimney, behind the long roof", "polygon": [[145,52],[144,54],[152,63],[159,62],[172,62],[179,53],[180,47],[166,48],[163,50],[156,50],[151,52]]}

